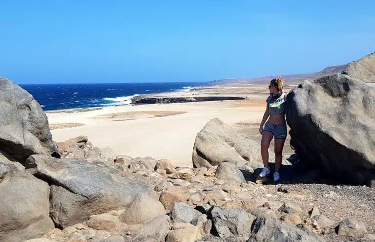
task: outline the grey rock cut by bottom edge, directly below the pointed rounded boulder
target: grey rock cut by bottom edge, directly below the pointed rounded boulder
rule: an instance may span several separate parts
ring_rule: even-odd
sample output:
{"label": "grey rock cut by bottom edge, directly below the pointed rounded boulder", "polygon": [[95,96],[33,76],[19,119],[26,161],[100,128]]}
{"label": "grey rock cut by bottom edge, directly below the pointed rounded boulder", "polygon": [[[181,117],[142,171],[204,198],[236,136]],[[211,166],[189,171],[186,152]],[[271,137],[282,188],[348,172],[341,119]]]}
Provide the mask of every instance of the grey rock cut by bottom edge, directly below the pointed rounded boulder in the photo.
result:
{"label": "grey rock cut by bottom edge, directly below the pointed rounded boulder", "polygon": [[165,241],[170,228],[169,216],[161,215],[144,223],[138,234],[158,241]]}

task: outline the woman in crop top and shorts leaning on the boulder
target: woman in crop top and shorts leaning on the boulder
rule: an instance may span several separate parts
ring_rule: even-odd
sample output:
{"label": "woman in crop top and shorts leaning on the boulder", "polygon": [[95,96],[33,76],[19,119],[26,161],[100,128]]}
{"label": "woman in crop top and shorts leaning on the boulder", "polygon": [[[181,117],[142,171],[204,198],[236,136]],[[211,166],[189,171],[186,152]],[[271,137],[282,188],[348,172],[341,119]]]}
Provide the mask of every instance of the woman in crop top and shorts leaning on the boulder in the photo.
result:
{"label": "woman in crop top and shorts leaning on the boulder", "polygon": [[[259,175],[261,177],[265,177],[270,174],[270,167],[268,164],[268,148],[270,147],[273,136],[275,136],[274,181],[277,181],[280,178],[279,170],[281,161],[283,160],[283,148],[285,139],[287,137],[287,124],[285,121],[285,101],[287,100],[287,93],[283,92],[283,87],[284,79],[282,76],[271,80],[271,83],[268,86],[270,89],[270,96],[267,98],[266,111],[263,115],[259,128],[259,132],[262,134],[261,151],[264,165],[264,168]],[[265,123],[266,125],[264,126]]]}

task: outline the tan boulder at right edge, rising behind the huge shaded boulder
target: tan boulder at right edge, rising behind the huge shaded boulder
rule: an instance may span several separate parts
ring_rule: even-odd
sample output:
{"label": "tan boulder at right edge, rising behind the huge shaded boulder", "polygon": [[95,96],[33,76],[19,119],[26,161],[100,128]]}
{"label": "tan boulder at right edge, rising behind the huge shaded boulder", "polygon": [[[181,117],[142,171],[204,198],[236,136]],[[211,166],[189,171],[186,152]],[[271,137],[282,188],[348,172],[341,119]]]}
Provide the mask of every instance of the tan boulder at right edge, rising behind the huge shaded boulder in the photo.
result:
{"label": "tan boulder at right edge, rising behind the huge shaded boulder", "polygon": [[375,83],[375,53],[353,61],[343,73],[364,82]]}

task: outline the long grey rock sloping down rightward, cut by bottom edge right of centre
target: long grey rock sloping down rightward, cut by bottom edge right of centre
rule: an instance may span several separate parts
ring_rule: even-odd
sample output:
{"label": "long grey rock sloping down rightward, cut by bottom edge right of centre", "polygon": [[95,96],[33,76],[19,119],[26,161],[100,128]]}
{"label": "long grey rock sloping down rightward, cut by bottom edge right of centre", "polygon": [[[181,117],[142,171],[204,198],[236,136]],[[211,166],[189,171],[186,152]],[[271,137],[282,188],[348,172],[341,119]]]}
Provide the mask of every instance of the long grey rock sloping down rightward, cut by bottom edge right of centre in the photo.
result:
{"label": "long grey rock sloping down rightward, cut by bottom edge right of centre", "polygon": [[308,233],[281,220],[257,218],[248,242],[325,242],[323,238]]}

